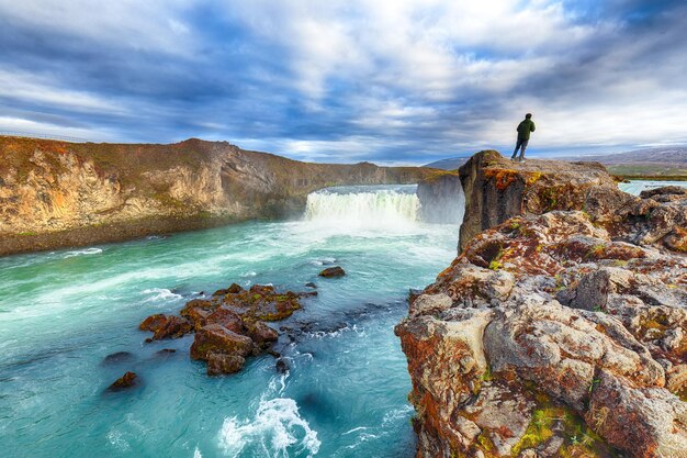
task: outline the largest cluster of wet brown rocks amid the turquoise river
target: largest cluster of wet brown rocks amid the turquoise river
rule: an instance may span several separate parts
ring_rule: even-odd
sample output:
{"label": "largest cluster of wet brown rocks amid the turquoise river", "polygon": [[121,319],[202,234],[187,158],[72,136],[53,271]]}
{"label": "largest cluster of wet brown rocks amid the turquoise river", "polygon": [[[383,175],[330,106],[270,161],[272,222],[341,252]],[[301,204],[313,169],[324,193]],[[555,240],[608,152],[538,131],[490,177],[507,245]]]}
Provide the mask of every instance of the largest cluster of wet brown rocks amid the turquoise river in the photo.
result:
{"label": "largest cluster of wet brown rocks amid the turquoise river", "polygon": [[245,290],[233,283],[215,291],[210,299],[193,299],[181,316],[155,314],[140,324],[154,333],[148,342],[181,337],[195,332],[191,358],[207,362],[207,375],[239,371],[246,358],[266,351],[279,334],[266,321],[284,320],[301,309],[302,298],[316,292],[278,292],[271,286],[254,284]]}

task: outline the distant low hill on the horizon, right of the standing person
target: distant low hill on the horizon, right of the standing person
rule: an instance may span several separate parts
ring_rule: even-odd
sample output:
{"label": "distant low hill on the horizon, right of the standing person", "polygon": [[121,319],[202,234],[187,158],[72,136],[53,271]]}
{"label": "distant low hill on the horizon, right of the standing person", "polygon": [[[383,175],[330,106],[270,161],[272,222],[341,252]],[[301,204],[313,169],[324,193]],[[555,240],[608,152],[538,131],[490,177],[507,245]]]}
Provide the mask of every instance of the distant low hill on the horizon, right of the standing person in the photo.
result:
{"label": "distant low hill on the horizon, right of the standing person", "polygon": [[568,158],[595,160],[624,177],[687,178],[687,146],[637,149],[626,153]]}

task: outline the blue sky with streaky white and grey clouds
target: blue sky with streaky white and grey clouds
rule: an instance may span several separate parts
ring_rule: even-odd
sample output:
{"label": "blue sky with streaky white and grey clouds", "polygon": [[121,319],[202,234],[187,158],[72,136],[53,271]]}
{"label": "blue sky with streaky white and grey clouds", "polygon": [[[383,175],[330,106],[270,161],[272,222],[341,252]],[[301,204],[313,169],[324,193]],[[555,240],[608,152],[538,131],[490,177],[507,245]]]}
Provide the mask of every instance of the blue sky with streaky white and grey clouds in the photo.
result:
{"label": "blue sky with streaky white and grey clouds", "polygon": [[687,143],[687,0],[0,0],[0,133],[426,164]]}

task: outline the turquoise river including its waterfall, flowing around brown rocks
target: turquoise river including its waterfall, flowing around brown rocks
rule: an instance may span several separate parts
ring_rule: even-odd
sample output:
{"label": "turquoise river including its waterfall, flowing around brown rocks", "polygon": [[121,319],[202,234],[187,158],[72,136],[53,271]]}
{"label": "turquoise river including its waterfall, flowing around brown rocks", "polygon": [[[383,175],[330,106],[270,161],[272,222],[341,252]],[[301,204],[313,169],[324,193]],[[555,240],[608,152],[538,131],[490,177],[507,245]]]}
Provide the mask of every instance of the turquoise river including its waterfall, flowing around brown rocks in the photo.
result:
{"label": "turquoise river including its waterfall, flowing around brown rocks", "polygon": [[[409,288],[455,256],[459,227],[417,221],[415,187],[311,194],[302,221],[254,222],[0,259],[3,457],[412,457]],[[322,279],[330,265],[347,276]],[[193,336],[145,344],[138,323],[190,299],[273,283],[318,297],[266,355],[211,378]],[[162,349],[176,349],[174,353]],[[126,351],[121,360],[108,355]],[[142,383],[105,389],[125,371]]]}

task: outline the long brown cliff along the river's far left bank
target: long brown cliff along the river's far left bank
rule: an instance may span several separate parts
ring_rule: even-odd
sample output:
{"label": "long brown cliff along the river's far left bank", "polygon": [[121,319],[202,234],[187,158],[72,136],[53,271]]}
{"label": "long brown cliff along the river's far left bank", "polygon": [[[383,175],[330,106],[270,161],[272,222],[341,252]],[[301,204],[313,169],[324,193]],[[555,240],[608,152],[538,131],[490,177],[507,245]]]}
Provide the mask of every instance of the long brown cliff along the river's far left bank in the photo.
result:
{"label": "long brown cliff along the river's far left bank", "polygon": [[225,142],[76,144],[0,136],[0,255],[300,214],[336,185],[414,183],[414,167],[306,164]]}

